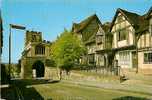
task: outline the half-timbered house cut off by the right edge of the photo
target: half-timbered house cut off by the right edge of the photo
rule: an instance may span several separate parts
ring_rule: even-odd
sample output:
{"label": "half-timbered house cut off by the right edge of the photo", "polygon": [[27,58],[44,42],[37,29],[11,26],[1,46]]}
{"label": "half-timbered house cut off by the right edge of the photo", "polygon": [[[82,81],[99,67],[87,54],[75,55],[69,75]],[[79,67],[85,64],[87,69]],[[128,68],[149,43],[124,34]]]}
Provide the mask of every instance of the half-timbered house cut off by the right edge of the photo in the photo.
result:
{"label": "half-timbered house cut off by the right edge of the photo", "polygon": [[137,32],[138,71],[152,74],[152,7],[140,19]]}

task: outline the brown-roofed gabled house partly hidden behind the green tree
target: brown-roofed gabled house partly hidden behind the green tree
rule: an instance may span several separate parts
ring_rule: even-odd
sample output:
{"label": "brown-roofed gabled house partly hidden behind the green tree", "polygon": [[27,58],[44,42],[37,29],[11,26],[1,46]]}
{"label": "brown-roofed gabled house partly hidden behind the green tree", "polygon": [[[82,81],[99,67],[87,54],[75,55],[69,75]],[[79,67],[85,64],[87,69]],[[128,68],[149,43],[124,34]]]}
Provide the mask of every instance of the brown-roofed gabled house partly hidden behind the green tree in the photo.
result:
{"label": "brown-roofed gabled house partly hidden behind the green tree", "polygon": [[87,55],[83,57],[83,62],[89,65],[95,65],[95,54],[96,54],[96,34],[99,30],[101,22],[96,14],[88,17],[80,23],[74,23],[72,31],[84,42],[87,48]]}

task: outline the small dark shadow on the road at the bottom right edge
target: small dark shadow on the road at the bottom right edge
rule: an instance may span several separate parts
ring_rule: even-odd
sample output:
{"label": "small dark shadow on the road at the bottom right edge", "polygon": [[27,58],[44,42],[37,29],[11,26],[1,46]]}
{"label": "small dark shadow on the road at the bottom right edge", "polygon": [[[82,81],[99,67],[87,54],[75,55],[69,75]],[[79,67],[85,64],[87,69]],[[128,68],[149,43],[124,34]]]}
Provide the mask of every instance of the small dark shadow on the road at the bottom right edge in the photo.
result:
{"label": "small dark shadow on the road at the bottom right edge", "polygon": [[114,98],[112,100],[150,100],[150,99],[141,98],[141,97],[133,97],[133,96],[124,96],[124,97]]}

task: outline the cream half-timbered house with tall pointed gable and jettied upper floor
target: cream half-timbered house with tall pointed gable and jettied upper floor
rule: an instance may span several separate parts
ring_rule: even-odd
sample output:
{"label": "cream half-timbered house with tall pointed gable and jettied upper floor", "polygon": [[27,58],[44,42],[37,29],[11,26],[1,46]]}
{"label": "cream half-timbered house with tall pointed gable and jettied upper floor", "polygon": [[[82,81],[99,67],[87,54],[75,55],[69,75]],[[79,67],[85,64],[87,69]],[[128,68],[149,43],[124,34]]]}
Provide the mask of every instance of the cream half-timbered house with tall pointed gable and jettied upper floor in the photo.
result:
{"label": "cream half-timbered house with tall pointed gable and jettied upper floor", "polygon": [[140,16],[118,8],[110,32],[113,34],[112,50],[115,60],[122,69],[134,71],[137,68],[136,31]]}

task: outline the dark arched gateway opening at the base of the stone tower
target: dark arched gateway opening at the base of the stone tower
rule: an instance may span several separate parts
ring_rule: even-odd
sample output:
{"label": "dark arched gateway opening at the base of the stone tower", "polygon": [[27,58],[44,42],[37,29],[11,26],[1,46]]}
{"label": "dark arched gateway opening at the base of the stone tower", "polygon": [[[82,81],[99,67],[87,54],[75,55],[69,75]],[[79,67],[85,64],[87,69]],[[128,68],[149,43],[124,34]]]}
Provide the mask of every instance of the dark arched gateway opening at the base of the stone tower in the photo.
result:
{"label": "dark arched gateway opening at the base of the stone tower", "polygon": [[35,69],[36,71],[36,77],[44,77],[44,63],[40,60],[35,61],[34,64],[32,65],[32,69]]}

